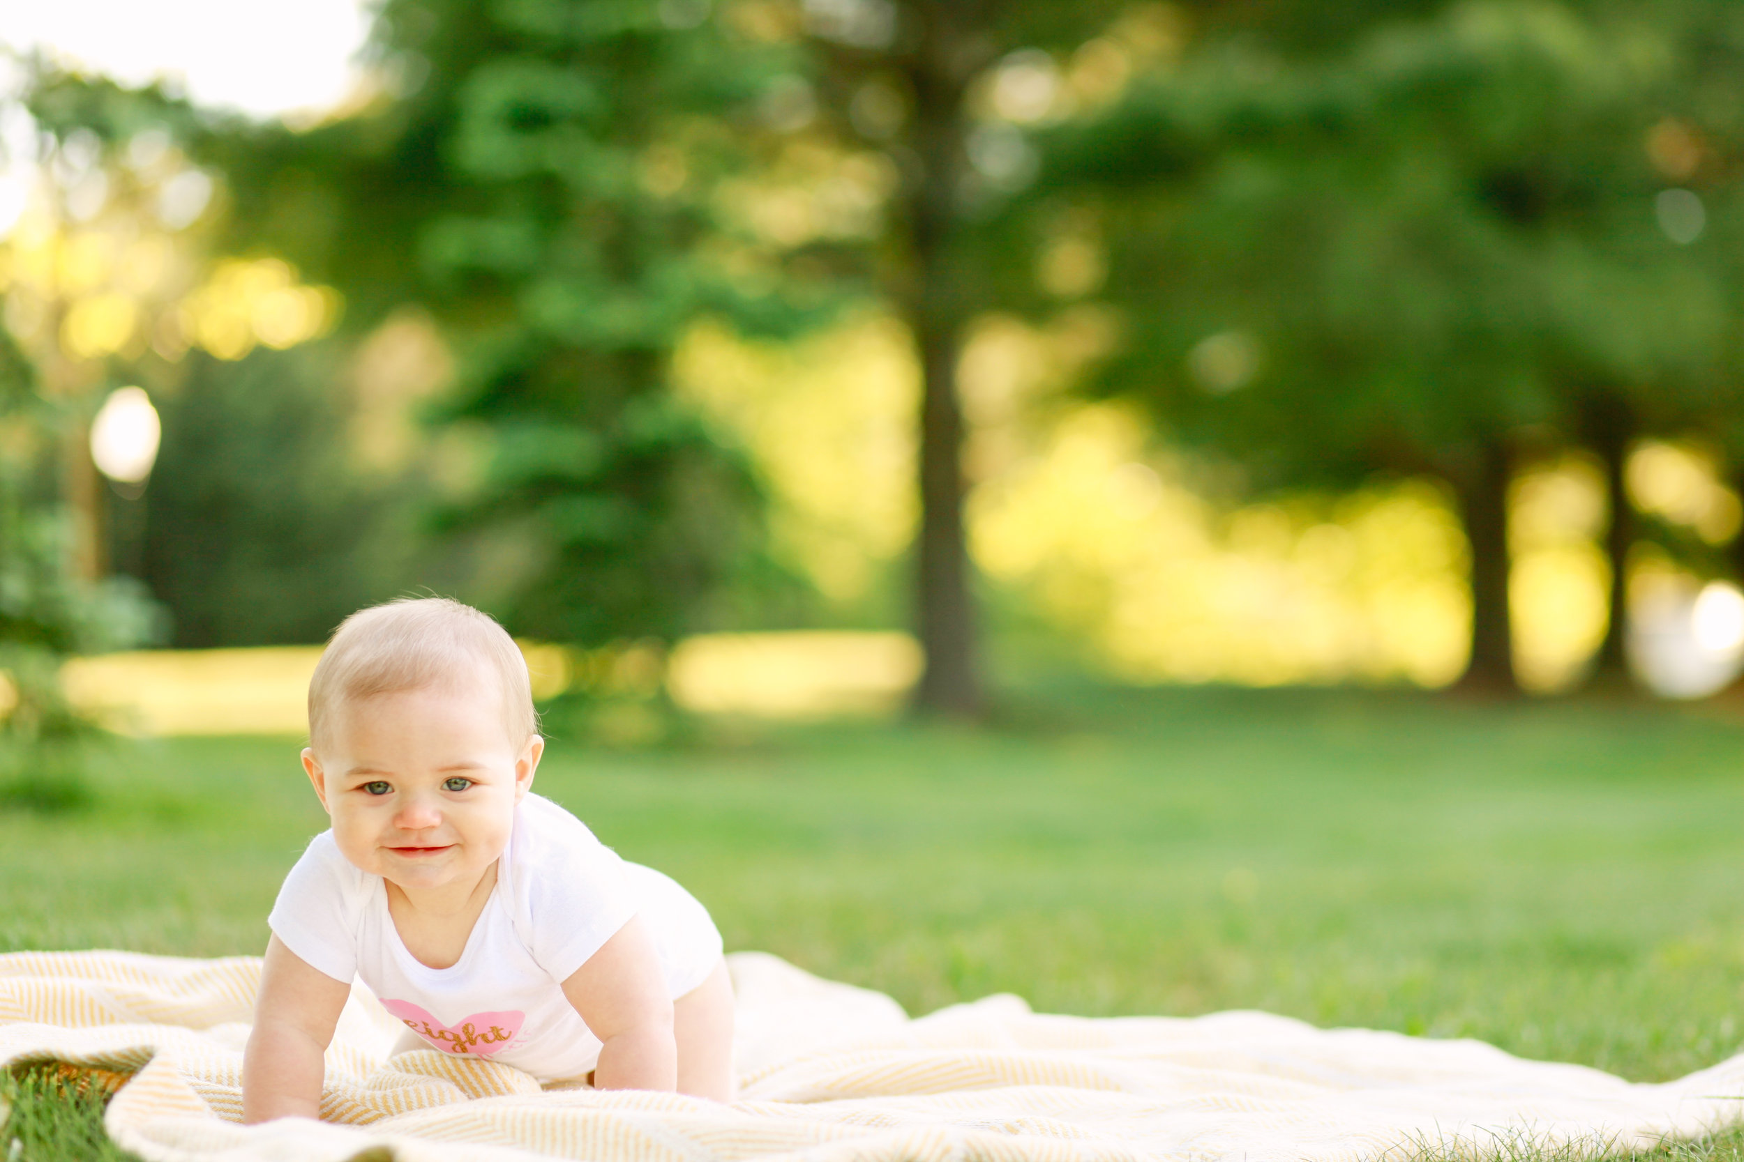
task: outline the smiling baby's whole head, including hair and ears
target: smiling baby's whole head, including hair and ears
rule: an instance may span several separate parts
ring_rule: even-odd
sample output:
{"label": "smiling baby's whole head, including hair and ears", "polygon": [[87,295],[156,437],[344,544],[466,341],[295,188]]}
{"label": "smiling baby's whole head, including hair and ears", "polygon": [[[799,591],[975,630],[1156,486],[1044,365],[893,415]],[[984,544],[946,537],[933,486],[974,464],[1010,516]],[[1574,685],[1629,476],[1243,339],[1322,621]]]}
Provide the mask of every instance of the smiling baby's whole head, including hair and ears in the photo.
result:
{"label": "smiling baby's whole head, including hair and ears", "polygon": [[303,770],[356,866],[401,888],[476,883],[544,749],[527,662],[478,610],[359,610],[309,681]]}

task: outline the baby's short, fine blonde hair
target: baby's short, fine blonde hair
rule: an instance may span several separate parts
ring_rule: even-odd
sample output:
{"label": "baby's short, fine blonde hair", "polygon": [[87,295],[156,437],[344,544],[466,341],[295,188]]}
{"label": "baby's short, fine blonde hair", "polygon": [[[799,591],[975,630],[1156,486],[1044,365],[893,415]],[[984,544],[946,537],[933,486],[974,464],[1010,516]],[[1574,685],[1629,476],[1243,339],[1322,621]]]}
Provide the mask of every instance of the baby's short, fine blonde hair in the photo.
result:
{"label": "baby's short, fine blonde hair", "polygon": [[342,704],[405,690],[455,690],[480,672],[495,678],[502,725],[520,747],[539,732],[527,659],[488,613],[448,598],[401,598],[358,610],[333,631],[309,679],[309,746],[321,749]]}

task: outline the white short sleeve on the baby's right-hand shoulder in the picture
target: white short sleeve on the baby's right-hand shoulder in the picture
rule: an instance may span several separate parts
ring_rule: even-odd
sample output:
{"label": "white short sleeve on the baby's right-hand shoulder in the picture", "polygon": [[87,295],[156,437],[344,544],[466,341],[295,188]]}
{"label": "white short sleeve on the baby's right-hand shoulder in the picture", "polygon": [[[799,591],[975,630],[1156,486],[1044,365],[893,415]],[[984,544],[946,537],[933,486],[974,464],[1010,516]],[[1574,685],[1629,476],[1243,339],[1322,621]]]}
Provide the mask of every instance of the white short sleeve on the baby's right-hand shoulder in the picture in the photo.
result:
{"label": "white short sleeve on the baby's right-hand shoulder in the picture", "polygon": [[567,981],[637,915],[624,861],[588,824],[528,794],[514,836],[523,941],[541,969]]}

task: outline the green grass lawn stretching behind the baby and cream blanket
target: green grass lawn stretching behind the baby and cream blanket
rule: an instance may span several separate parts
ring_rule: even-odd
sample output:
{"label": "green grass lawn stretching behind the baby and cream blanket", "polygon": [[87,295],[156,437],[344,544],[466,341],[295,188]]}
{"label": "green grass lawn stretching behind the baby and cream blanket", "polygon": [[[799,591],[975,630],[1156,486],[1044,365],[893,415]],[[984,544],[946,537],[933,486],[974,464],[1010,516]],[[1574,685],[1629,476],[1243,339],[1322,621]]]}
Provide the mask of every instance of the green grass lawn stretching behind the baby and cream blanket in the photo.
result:
{"label": "green grass lawn stretching behind the baby and cream blanket", "polygon": [[[912,1012],[1268,1009],[1638,1080],[1744,1040],[1744,718],[1718,709],[1104,692],[991,733],[556,739],[539,789],[729,948]],[[293,740],[117,747],[94,791],[0,815],[0,949],[260,951],[323,826]]]}

